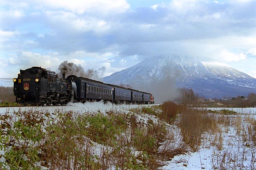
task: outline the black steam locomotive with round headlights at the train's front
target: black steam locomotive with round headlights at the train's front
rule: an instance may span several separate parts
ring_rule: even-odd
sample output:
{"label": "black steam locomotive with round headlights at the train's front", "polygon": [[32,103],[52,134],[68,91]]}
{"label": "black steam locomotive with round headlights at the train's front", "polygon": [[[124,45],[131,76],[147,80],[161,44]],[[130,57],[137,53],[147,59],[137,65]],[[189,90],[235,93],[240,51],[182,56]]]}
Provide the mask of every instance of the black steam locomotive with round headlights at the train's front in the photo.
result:
{"label": "black steam locomotive with round headlights at the train's front", "polygon": [[13,82],[17,103],[52,105],[67,102],[67,82],[60,81],[53,71],[41,67],[20,70],[20,74]]}

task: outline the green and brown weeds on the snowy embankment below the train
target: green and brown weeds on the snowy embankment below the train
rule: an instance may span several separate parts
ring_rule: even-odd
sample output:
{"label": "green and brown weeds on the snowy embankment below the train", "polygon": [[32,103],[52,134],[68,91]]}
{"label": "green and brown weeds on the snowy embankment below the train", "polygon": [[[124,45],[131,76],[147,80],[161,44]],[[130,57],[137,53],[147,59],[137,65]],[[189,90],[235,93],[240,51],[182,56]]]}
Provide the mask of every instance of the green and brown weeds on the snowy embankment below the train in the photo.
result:
{"label": "green and brown weeds on the snowy embankment below the train", "polygon": [[[152,113],[144,109],[148,111]],[[0,157],[6,160],[0,169],[154,170],[160,166],[157,150],[167,133],[162,121],[122,111],[18,111],[0,121],[0,147],[5,150]]]}

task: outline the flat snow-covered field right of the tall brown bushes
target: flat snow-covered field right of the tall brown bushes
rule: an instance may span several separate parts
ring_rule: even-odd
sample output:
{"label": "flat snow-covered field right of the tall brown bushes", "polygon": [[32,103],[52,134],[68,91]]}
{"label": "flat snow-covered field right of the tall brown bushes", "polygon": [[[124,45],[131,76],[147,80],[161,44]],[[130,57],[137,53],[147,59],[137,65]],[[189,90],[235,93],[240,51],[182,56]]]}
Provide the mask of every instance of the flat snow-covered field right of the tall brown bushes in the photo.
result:
{"label": "flat snow-covered field right of the tall brown bushes", "polygon": [[226,115],[230,125],[220,125],[221,148],[212,146],[212,141],[207,142],[209,134],[204,134],[205,143],[197,152],[175,156],[162,170],[256,170],[256,146],[250,141],[248,132],[253,126],[250,123],[256,119],[256,108],[199,108],[212,111],[223,109],[238,114]]}

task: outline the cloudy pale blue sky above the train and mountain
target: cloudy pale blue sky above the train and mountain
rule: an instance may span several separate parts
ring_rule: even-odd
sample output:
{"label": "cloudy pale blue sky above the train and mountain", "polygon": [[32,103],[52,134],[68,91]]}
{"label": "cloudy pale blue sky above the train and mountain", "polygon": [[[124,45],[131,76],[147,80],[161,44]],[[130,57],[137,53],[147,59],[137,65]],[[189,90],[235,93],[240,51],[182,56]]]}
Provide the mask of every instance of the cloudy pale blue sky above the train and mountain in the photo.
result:
{"label": "cloudy pale blue sky above the train and mountain", "polygon": [[32,66],[58,72],[67,60],[104,77],[172,54],[256,78],[255,9],[256,0],[0,0],[0,85]]}

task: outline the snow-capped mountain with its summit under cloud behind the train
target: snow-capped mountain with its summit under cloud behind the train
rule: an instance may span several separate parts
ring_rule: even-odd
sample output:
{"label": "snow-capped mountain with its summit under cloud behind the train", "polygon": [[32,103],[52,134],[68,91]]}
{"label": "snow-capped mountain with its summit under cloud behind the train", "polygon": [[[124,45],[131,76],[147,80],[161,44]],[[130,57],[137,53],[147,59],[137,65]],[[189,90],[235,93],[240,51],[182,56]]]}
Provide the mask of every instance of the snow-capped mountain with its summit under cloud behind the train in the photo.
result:
{"label": "snow-capped mountain with its summit under cloud behind the train", "polygon": [[116,85],[128,84],[133,88],[154,93],[164,91],[162,96],[170,95],[168,93],[174,92],[176,88],[192,88],[207,98],[247,96],[256,92],[256,79],[229,65],[174,55],[146,59],[104,77],[103,81]]}

